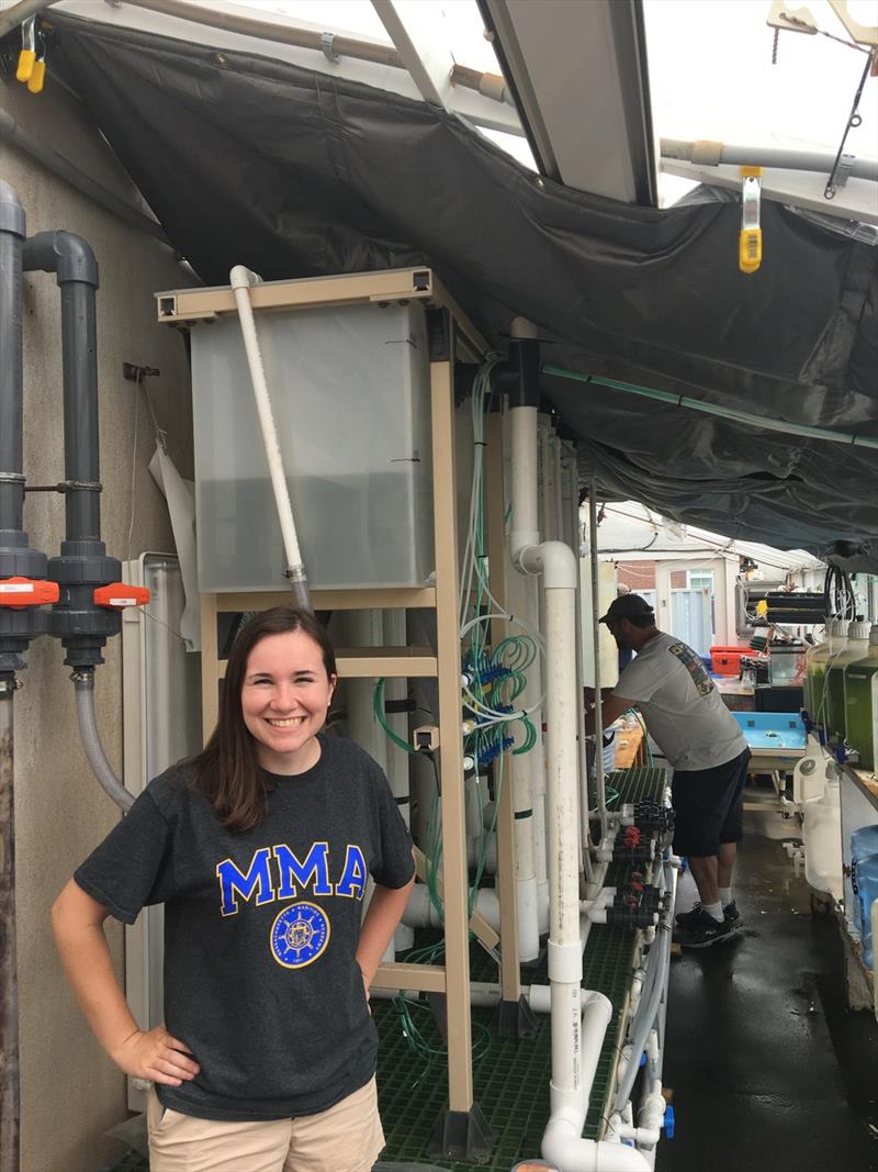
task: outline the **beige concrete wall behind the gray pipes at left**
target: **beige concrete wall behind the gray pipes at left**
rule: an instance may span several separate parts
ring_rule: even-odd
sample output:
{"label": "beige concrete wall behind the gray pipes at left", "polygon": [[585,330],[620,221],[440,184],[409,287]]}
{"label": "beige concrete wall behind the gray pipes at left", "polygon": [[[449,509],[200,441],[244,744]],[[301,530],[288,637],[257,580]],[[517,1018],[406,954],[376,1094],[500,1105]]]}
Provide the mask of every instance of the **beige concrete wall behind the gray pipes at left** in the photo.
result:
{"label": "beige concrete wall behind the gray pipes at left", "polygon": [[[116,195],[137,202],[124,171],[83,108],[49,77],[33,97],[0,84],[0,104],[19,124]],[[0,175],[19,193],[28,233],[66,229],[95,250],[103,539],[121,560],[144,550],[172,552],[164,498],[146,470],[155,450],[143,394],[122,363],[158,367],[149,381],[159,425],[184,476],[192,476],[188,367],[181,336],[156,323],[152,293],[191,284],[173,253],[129,227],[26,155],[0,144]],[[60,295],[48,273],[25,277],[25,473],[30,484],[63,478]],[[140,396],[138,403],[138,395]],[[135,415],[137,413],[137,427]],[[136,436],[136,443],[135,443]],[[50,556],[63,537],[60,495],[28,496],[30,545]],[[122,769],[121,640],[98,668],[98,724]],[[111,829],[118,812],[92,778],[78,744],[69,668],[60,643],[37,640],[15,697],[15,827],[21,1022],[21,1172],[97,1172],[122,1149],[103,1137],[124,1119],[125,1079],[104,1057],[68,990],[49,929],[49,907],[74,867]],[[116,959],[121,926],[109,921]]]}

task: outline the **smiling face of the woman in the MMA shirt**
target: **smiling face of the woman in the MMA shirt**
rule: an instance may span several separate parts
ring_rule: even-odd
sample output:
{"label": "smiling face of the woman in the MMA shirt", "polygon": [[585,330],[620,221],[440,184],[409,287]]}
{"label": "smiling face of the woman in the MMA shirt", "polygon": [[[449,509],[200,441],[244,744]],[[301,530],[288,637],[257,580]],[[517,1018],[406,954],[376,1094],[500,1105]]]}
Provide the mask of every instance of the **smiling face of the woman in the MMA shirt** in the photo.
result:
{"label": "smiling face of the woman in the MMA shirt", "polygon": [[294,775],[317,763],[316,736],[335,684],[320,646],[304,632],[267,635],[256,643],[243,675],[241,711],[263,769]]}

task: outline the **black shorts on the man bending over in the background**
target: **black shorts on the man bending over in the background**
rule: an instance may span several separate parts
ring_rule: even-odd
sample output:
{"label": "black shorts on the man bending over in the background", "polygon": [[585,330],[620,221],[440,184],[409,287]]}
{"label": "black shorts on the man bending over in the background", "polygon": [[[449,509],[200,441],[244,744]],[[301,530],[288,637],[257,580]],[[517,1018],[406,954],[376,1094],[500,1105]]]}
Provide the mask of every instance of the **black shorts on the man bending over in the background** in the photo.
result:
{"label": "black shorts on the man bending over in the background", "polygon": [[750,750],[713,769],[674,770],[674,853],[707,858],[743,838],[743,783]]}

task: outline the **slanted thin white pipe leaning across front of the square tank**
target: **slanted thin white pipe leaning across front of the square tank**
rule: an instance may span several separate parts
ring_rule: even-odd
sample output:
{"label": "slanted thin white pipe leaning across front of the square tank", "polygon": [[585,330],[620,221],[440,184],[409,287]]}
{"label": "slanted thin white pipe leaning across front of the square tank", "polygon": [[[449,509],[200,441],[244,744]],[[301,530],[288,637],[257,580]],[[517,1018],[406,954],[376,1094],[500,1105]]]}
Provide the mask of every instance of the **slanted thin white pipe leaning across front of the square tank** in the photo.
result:
{"label": "slanted thin white pipe leaning across front of the square tank", "polygon": [[262,430],[262,443],[266,449],[268,472],[272,477],[272,490],[274,492],[274,502],[283,539],[283,551],[287,559],[286,573],[299,605],[310,608],[308,580],[302,563],[302,554],[299,550],[296,523],[293,517],[289,488],[283,471],[283,458],[281,456],[280,443],[277,442],[277,428],[274,422],[272,398],[268,394],[268,383],[262,364],[262,350],[260,349],[259,336],[256,335],[256,322],[253,316],[253,306],[249,298],[249,288],[256,280],[256,277],[243,265],[235,265],[228,274],[228,280],[234,293],[238,316],[241,322],[243,348],[247,354],[247,366],[249,367],[253,394],[256,400],[256,411],[259,413],[259,425]]}

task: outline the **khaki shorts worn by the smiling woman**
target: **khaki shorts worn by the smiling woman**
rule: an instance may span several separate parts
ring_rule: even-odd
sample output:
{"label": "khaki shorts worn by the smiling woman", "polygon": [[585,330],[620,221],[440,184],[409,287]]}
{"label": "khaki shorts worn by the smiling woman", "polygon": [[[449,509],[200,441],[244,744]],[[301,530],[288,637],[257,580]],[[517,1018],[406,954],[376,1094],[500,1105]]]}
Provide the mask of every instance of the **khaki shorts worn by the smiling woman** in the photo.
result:
{"label": "khaki shorts worn by the smiling woman", "polygon": [[146,1106],[150,1172],[370,1172],[384,1147],[375,1078],[317,1115],[226,1123]]}

